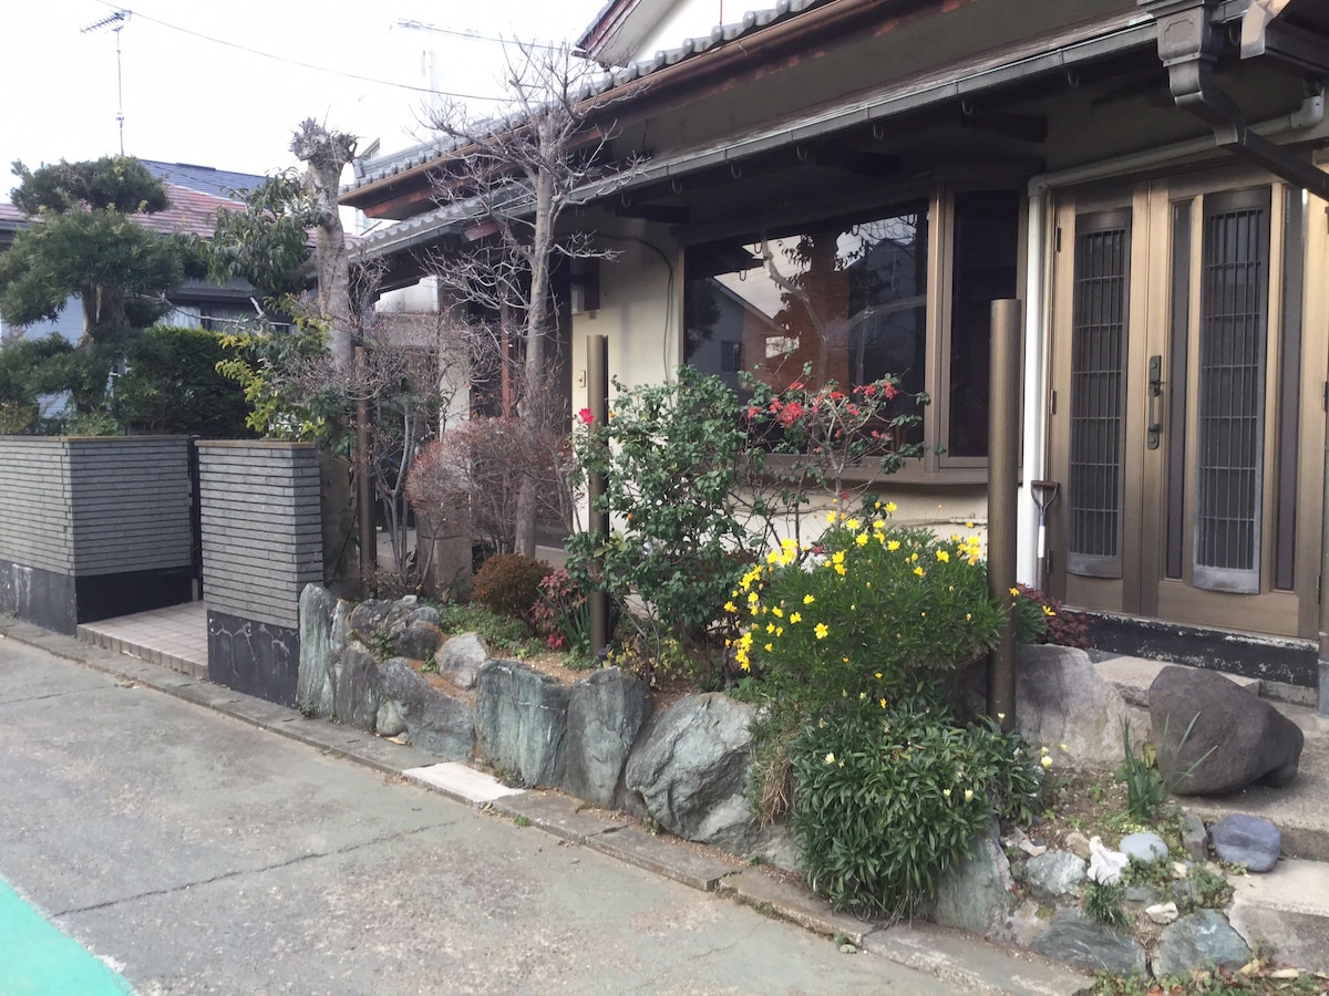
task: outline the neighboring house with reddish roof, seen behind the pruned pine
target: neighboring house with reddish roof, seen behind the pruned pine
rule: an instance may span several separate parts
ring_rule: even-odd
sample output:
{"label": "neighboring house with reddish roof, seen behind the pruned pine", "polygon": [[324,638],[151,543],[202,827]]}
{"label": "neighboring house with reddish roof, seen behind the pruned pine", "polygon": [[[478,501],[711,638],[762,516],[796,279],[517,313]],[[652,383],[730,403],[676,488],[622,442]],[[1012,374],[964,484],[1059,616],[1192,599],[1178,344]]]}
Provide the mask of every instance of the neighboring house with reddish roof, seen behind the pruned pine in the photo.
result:
{"label": "neighboring house with reddish roof, seen behind the pruned pine", "polygon": [[[170,207],[149,215],[134,215],[145,227],[169,234],[187,231],[210,238],[218,208],[243,210],[238,191],[250,190],[263,182],[263,177],[247,173],[229,173],[210,166],[155,162],[140,159],[150,174],[166,185]],[[13,242],[15,234],[28,224],[28,218],[13,205],[0,203],[0,252]],[[246,315],[254,313],[254,288],[243,280],[231,280],[223,287],[206,280],[186,280],[175,288],[169,300],[173,311],[162,317],[167,325],[185,328],[225,329]],[[69,299],[54,321],[37,321],[23,329],[9,329],[0,319],[0,340],[23,335],[41,339],[52,332],[77,343],[82,335],[82,304],[77,296]]]}

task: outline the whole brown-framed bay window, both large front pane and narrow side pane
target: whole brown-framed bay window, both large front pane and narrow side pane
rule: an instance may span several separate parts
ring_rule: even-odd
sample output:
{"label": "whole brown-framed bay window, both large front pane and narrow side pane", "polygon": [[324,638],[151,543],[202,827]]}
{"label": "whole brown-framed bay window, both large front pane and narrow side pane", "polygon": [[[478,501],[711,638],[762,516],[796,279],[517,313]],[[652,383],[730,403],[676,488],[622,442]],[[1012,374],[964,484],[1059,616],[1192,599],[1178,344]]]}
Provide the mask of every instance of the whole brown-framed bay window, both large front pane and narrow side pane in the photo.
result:
{"label": "whole brown-framed bay window, both large front pane and narrow side pane", "polygon": [[932,396],[916,438],[941,465],[981,465],[989,309],[1015,296],[1018,234],[1014,191],[966,191],[692,246],[684,360],[734,388],[743,372],[776,389],[894,374]]}

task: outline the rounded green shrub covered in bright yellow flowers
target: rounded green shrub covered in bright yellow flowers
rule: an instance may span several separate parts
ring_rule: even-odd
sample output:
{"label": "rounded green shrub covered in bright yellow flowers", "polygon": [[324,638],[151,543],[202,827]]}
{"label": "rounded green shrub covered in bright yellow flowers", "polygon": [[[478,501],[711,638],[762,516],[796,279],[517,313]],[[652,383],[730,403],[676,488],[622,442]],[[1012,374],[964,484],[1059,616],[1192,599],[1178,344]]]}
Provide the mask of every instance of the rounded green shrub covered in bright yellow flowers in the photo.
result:
{"label": "rounded green shrub covered in bright yellow flowers", "polygon": [[817,544],[784,540],[732,590],[735,656],[772,699],[812,717],[843,695],[894,700],[995,645],[1005,610],[978,539],[892,527],[892,509],[831,513]]}

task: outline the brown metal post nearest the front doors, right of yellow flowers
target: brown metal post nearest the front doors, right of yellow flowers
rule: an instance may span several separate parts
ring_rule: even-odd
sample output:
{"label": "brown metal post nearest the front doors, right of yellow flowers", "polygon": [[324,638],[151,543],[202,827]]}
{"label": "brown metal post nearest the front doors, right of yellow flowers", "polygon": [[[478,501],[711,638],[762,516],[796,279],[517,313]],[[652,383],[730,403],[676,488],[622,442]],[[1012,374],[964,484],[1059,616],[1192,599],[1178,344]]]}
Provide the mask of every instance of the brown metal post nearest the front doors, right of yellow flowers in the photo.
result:
{"label": "brown metal post nearest the front doors, right of yellow flowers", "polygon": [[1002,729],[1015,725],[1017,515],[1019,513],[1019,301],[991,305],[987,429],[987,590],[1006,606],[1001,641],[987,660],[987,712]]}

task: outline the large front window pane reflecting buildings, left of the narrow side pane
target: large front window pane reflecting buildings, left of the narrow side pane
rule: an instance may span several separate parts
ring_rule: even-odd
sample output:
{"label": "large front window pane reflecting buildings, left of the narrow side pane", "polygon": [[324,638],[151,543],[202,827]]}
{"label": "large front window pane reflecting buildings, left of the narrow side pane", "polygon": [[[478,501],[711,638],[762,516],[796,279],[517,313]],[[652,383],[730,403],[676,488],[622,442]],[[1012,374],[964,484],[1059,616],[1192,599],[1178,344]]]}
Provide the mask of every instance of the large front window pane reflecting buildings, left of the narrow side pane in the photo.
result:
{"label": "large front window pane reflecting buildings, left of the narrow side pane", "polygon": [[777,390],[886,374],[901,377],[906,392],[924,390],[926,243],[928,206],[916,202],[874,219],[771,235],[764,252],[760,238],[695,246],[686,262],[684,359],[732,388],[746,369]]}

